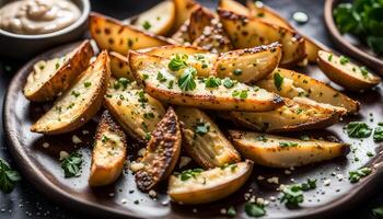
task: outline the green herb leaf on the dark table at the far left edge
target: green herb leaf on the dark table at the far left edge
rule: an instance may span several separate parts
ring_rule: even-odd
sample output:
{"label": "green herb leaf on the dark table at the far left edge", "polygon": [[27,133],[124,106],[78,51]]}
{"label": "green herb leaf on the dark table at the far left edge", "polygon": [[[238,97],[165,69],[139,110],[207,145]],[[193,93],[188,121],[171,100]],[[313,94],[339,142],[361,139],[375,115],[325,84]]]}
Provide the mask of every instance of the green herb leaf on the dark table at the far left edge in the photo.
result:
{"label": "green herb leaf on the dark table at the far left edge", "polygon": [[11,169],[10,164],[0,158],[0,189],[11,193],[14,184],[21,180],[18,171]]}

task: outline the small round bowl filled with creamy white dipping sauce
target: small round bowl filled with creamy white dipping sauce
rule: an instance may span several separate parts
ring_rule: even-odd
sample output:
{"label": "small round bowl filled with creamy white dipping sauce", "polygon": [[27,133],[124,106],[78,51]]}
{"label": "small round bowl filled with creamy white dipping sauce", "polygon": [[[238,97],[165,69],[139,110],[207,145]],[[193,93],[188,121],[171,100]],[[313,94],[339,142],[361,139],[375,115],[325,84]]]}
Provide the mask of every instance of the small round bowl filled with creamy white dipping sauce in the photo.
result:
{"label": "small round bowl filled with creamy white dipping sauce", "polygon": [[0,57],[27,59],[83,36],[89,0],[0,0]]}

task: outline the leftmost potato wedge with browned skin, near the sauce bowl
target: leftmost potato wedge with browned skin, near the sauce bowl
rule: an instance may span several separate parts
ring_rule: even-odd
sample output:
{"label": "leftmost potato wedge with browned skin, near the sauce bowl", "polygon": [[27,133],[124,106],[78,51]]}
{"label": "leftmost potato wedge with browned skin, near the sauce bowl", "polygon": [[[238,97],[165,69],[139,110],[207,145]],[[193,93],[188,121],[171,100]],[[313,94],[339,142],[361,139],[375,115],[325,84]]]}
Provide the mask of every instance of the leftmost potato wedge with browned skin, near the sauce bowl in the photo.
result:
{"label": "leftmost potato wedge with browned skin, near the sauce bowl", "polygon": [[34,102],[54,100],[88,68],[92,56],[93,48],[86,39],[61,58],[38,61],[33,66],[33,71],[26,79],[25,97]]}

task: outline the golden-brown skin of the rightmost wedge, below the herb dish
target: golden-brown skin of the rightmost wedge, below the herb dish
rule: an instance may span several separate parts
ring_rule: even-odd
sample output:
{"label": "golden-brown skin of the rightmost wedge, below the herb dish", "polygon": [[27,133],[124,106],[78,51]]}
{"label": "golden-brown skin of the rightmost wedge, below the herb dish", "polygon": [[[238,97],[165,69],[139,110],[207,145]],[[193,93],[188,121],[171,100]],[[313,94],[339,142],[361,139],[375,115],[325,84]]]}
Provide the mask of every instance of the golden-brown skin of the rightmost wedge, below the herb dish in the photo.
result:
{"label": "golden-brown skin of the rightmost wedge, below the herb dish", "polygon": [[[332,61],[328,60],[328,56],[333,56]],[[371,89],[382,81],[379,77],[373,74],[371,74],[369,79],[361,79],[360,77],[358,78],[355,74],[361,72],[353,72],[351,70],[348,70],[346,69],[346,65],[352,65],[353,68],[357,69],[356,71],[360,71],[359,67],[353,64],[346,64],[345,66],[341,66],[340,64],[335,62],[338,61],[338,59],[339,57],[334,54],[320,50],[317,65],[332,81],[344,87],[345,89],[349,91],[367,90]]]}

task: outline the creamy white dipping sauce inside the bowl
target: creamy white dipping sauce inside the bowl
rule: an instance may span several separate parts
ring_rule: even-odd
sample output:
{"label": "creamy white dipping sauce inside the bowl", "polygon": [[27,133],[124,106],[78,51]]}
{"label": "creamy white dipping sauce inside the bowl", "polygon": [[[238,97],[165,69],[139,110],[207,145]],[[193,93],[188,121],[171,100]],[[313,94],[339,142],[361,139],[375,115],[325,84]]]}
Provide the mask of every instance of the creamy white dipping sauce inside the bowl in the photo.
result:
{"label": "creamy white dipping sauce inside the bowl", "polygon": [[15,34],[47,34],[62,30],[81,16],[67,0],[19,0],[0,9],[0,28]]}

